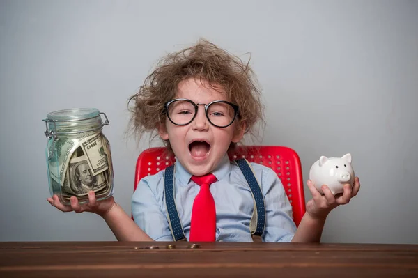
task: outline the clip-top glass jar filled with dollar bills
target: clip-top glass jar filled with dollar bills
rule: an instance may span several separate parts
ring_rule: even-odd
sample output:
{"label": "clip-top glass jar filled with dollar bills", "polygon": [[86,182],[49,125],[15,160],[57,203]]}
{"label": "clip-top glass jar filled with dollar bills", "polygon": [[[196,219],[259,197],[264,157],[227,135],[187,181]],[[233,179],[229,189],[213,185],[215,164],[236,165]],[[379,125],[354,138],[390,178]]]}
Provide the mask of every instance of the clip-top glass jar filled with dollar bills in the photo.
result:
{"label": "clip-top glass jar filled with dollar bills", "polygon": [[[102,121],[101,114],[105,121]],[[106,114],[95,108],[51,112],[45,121],[46,159],[49,192],[70,204],[76,196],[88,203],[88,192],[107,199],[114,192],[110,144],[102,128],[109,125]]]}

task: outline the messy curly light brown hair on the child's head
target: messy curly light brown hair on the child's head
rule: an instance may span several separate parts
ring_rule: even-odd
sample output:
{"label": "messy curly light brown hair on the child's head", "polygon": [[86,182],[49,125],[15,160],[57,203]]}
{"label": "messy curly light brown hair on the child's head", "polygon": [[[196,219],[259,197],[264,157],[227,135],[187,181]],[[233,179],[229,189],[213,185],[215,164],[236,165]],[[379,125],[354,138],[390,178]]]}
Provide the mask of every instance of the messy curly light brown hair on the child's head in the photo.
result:
{"label": "messy curly light brown hair on the child's head", "polygon": [[[238,56],[226,52],[207,40],[199,40],[196,45],[179,52],[164,56],[146,77],[139,91],[132,95],[128,102],[132,114],[131,132],[140,139],[144,132],[156,132],[159,127],[165,128],[166,114],[164,104],[176,98],[178,84],[185,79],[196,78],[201,84],[226,93],[226,99],[239,107],[237,128],[245,128],[255,136],[255,126],[263,123],[263,105],[261,90],[258,88],[256,76]],[[203,83],[205,82],[205,83]],[[130,103],[133,105],[130,106]],[[235,130],[236,132],[237,130]],[[169,140],[165,142],[171,153]],[[229,150],[235,144],[231,143]]]}

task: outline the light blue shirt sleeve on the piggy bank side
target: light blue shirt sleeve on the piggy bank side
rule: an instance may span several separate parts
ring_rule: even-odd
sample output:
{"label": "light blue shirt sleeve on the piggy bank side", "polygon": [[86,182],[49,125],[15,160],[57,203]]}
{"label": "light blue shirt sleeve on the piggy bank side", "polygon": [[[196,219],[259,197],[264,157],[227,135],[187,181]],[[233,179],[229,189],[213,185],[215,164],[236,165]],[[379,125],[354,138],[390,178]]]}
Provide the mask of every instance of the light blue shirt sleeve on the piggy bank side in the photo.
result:
{"label": "light blue shirt sleeve on the piggy bank side", "polygon": [[291,242],[296,225],[292,219],[292,206],[283,184],[270,168],[263,169],[261,180],[265,202],[265,242]]}

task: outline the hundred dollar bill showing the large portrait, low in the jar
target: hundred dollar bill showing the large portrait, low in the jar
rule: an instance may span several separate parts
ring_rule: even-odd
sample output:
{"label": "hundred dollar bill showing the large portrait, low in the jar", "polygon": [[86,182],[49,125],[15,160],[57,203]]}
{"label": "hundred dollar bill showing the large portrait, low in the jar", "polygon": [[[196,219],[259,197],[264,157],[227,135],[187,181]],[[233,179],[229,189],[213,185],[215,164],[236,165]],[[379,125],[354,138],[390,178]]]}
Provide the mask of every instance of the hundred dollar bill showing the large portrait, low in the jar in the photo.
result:
{"label": "hundred dollar bill showing the large portrait, low in the jar", "polygon": [[74,157],[68,164],[68,178],[66,179],[63,192],[65,196],[86,196],[90,190],[98,192],[108,183],[104,178],[104,173],[98,173],[93,176],[90,166],[87,162],[87,155]]}

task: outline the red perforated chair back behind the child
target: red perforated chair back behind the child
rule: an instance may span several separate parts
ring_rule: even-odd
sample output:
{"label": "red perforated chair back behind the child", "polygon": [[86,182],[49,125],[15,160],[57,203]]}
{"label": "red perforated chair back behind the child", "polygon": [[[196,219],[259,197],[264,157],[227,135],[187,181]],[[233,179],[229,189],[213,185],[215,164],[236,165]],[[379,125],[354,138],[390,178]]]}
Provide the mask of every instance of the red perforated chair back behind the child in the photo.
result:
{"label": "red perforated chair back behind the child", "polygon": [[[293,208],[293,221],[299,226],[305,213],[304,190],[302,180],[302,166],[295,150],[283,146],[238,146],[229,155],[230,160],[242,157],[249,162],[263,164],[273,169],[279,176],[281,183],[291,201]],[[144,150],[137,160],[135,171],[134,191],[141,178],[150,176],[165,169],[175,161],[172,155],[166,155],[166,148],[148,148]]]}

